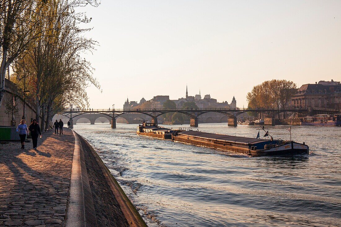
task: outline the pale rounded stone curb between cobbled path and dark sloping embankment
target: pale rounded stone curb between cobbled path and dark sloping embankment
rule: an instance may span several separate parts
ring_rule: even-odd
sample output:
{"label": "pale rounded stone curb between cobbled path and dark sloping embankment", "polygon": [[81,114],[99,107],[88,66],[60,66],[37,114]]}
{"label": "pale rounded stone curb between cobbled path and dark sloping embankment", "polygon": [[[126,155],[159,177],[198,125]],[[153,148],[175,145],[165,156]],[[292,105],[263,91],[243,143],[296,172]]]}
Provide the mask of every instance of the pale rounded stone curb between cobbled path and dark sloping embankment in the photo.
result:
{"label": "pale rounded stone curb between cobbled path and dark sloping embankment", "polygon": [[70,197],[66,212],[66,227],[97,227],[95,209],[84,161],[83,149],[75,137],[75,148],[72,159]]}

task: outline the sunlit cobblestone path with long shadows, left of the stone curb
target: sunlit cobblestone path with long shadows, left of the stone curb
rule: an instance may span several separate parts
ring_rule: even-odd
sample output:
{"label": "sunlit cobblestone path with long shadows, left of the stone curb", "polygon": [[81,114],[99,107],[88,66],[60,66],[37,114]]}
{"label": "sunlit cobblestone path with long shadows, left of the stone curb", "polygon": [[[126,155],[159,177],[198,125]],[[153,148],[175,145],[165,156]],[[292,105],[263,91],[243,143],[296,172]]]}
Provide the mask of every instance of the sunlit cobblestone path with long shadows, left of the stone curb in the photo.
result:
{"label": "sunlit cobblestone path with long shadows, left of the stone curb", "polygon": [[25,150],[0,144],[0,226],[63,226],[68,202],[74,136],[52,130]]}

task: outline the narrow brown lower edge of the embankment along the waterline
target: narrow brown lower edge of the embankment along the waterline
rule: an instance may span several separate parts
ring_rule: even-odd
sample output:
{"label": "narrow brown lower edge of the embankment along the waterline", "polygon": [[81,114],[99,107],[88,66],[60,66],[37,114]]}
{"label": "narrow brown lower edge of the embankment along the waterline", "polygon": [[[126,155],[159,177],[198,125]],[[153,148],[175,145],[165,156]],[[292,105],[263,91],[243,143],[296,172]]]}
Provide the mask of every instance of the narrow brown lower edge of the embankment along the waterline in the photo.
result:
{"label": "narrow brown lower edge of the embankment along the waterline", "polygon": [[[77,134],[77,133],[76,133]],[[78,135],[78,134],[77,134]],[[81,137],[80,135],[78,135]],[[83,137],[81,137],[83,138]],[[84,138],[83,138],[84,139]],[[110,186],[116,200],[118,201],[120,208],[124,214],[124,217],[127,219],[130,227],[148,227],[141,215],[138,213],[133,203],[130,201],[128,196],[124,193],[123,189],[115,179],[115,177],[111,174],[110,170],[106,167],[101,157],[95,152],[92,146],[84,139],[87,145],[91,148],[91,153],[102,169],[103,175],[105,176],[108,185]]]}

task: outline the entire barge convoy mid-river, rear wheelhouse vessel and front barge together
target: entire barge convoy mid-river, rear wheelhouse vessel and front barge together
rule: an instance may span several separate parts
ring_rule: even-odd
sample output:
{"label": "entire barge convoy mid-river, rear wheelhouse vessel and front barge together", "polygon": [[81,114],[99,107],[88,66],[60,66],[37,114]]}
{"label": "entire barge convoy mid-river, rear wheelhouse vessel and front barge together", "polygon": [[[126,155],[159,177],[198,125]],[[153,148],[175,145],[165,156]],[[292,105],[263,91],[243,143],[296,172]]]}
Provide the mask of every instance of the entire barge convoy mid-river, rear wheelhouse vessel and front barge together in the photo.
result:
{"label": "entire barge convoy mid-river, rear wheelhouse vessel and front barge together", "polygon": [[[264,130],[264,127],[263,127]],[[284,154],[309,154],[309,147],[305,143],[297,143],[292,140],[274,140],[230,136],[224,134],[193,131],[189,128],[169,129],[159,127],[155,123],[146,123],[137,127],[137,135],[149,136],[159,139],[171,139],[177,142],[220,149],[224,151],[257,156],[284,155]],[[258,133],[259,134],[259,133]],[[268,132],[267,132],[268,134]]]}

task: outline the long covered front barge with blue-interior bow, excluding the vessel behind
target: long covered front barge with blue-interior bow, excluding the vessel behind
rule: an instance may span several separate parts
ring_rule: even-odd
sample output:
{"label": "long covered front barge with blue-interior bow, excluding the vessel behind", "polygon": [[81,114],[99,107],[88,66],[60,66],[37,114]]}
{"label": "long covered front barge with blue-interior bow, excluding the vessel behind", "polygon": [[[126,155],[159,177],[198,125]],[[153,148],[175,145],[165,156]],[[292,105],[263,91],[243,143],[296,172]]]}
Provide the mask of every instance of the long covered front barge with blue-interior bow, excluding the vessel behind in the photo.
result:
{"label": "long covered front barge with blue-interior bow, excluding the vessel behind", "polygon": [[309,147],[304,142],[297,143],[292,140],[256,139],[199,131],[177,132],[173,134],[172,140],[247,154],[253,157],[300,153],[309,154]]}

